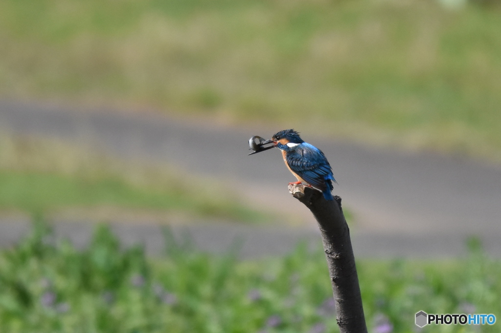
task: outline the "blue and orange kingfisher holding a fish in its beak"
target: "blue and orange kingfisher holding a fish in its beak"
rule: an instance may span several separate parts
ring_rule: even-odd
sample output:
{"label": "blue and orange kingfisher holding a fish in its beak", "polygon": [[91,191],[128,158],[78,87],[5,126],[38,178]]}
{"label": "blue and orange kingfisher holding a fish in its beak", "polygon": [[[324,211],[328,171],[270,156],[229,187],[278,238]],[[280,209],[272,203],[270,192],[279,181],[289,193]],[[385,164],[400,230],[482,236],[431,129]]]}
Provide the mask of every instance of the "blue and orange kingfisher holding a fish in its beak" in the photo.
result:
{"label": "blue and orange kingfisher holding a fish in its beak", "polygon": [[[326,200],[332,200],[332,182],[337,183],[332,174],[332,167],[325,157],[322,150],[316,146],[305,142],[299,132],[294,129],[285,129],[272,136],[271,140],[263,140],[259,138],[259,143],[256,145],[250,144],[255,150],[254,153],[264,151],[270,148],[277,147],[282,150],[285,164],[289,170],[296,176],[298,181],[290,182],[290,184],[305,183],[313,188],[320,190]],[[253,141],[254,137],[251,138]],[[251,143],[249,141],[249,143]],[[264,144],[272,143],[273,145],[263,147]]]}

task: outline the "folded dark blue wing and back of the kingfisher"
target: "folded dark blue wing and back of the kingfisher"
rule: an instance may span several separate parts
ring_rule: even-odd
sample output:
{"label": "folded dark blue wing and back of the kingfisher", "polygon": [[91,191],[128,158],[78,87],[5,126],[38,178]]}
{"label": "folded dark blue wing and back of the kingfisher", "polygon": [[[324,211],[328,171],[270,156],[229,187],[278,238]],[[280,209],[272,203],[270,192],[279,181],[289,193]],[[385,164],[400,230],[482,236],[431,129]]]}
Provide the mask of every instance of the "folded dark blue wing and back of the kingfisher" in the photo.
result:
{"label": "folded dark blue wing and back of the kingfisher", "polygon": [[288,152],[286,159],[291,170],[310,185],[320,190],[327,188],[326,180],[330,179],[332,169],[322,150],[305,142]]}

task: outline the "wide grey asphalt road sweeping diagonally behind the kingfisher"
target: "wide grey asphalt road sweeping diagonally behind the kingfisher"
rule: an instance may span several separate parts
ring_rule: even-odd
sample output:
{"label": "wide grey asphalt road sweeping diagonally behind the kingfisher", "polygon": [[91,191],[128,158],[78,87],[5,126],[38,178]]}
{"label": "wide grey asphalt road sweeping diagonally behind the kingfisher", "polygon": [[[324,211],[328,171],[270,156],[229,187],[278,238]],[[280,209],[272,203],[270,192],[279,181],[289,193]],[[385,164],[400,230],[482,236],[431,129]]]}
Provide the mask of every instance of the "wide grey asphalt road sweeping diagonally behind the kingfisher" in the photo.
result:
{"label": "wide grey asphalt road sweeping diagonally behind the kingfisher", "polygon": [[[298,214],[305,220],[305,230],[315,232],[306,208],[298,207],[287,191],[288,181],[295,179],[280,153],[272,149],[246,155],[250,136],[271,136],[284,128],[250,125],[235,129],[153,112],[76,112],[17,101],[0,102],[0,127],[19,134],[87,142],[121,157],[167,161],[223,181],[256,204]],[[484,237],[498,251],[501,169],[435,154],[333,142],[315,133],[302,135],[327,155],[340,184],[334,192],[355,214],[354,238],[360,235],[371,243],[367,239],[372,236],[375,252],[377,246],[391,248],[395,254],[406,253],[409,247],[422,247],[423,253],[429,249],[457,252],[450,251],[452,244],[467,234]]]}

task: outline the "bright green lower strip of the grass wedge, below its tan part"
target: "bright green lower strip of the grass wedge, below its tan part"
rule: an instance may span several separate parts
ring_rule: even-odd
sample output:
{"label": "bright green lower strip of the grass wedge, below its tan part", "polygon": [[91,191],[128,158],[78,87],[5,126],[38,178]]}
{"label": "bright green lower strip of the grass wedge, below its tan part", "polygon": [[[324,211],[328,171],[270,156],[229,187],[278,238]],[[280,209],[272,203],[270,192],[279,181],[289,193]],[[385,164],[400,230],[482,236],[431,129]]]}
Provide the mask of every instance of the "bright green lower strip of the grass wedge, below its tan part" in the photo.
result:
{"label": "bright green lower strip of the grass wedge, below its tan part", "polygon": [[86,179],[46,172],[0,170],[0,209],[50,212],[65,207],[115,206],[150,211],[186,211],[236,221],[263,221],[266,214],[224,199],[183,189],[134,186],[119,176]]}

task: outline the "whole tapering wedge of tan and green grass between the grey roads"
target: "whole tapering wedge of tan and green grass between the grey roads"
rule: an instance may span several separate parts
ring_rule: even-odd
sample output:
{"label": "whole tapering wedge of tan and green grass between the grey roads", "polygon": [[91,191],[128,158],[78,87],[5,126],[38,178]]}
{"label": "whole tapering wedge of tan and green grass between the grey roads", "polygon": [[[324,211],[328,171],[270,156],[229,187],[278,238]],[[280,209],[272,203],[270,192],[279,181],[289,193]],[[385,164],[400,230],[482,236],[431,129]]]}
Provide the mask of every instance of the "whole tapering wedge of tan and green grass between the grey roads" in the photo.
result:
{"label": "whole tapering wedge of tan and green grass between the grey roads", "polygon": [[[217,193],[217,195],[214,195]],[[99,208],[243,222],[273,219],[217,184],[165,165],[124,162],[89,148],[0,135],[0,210],[81,215]],[[117,209],[113,209],[117,208]]]}

